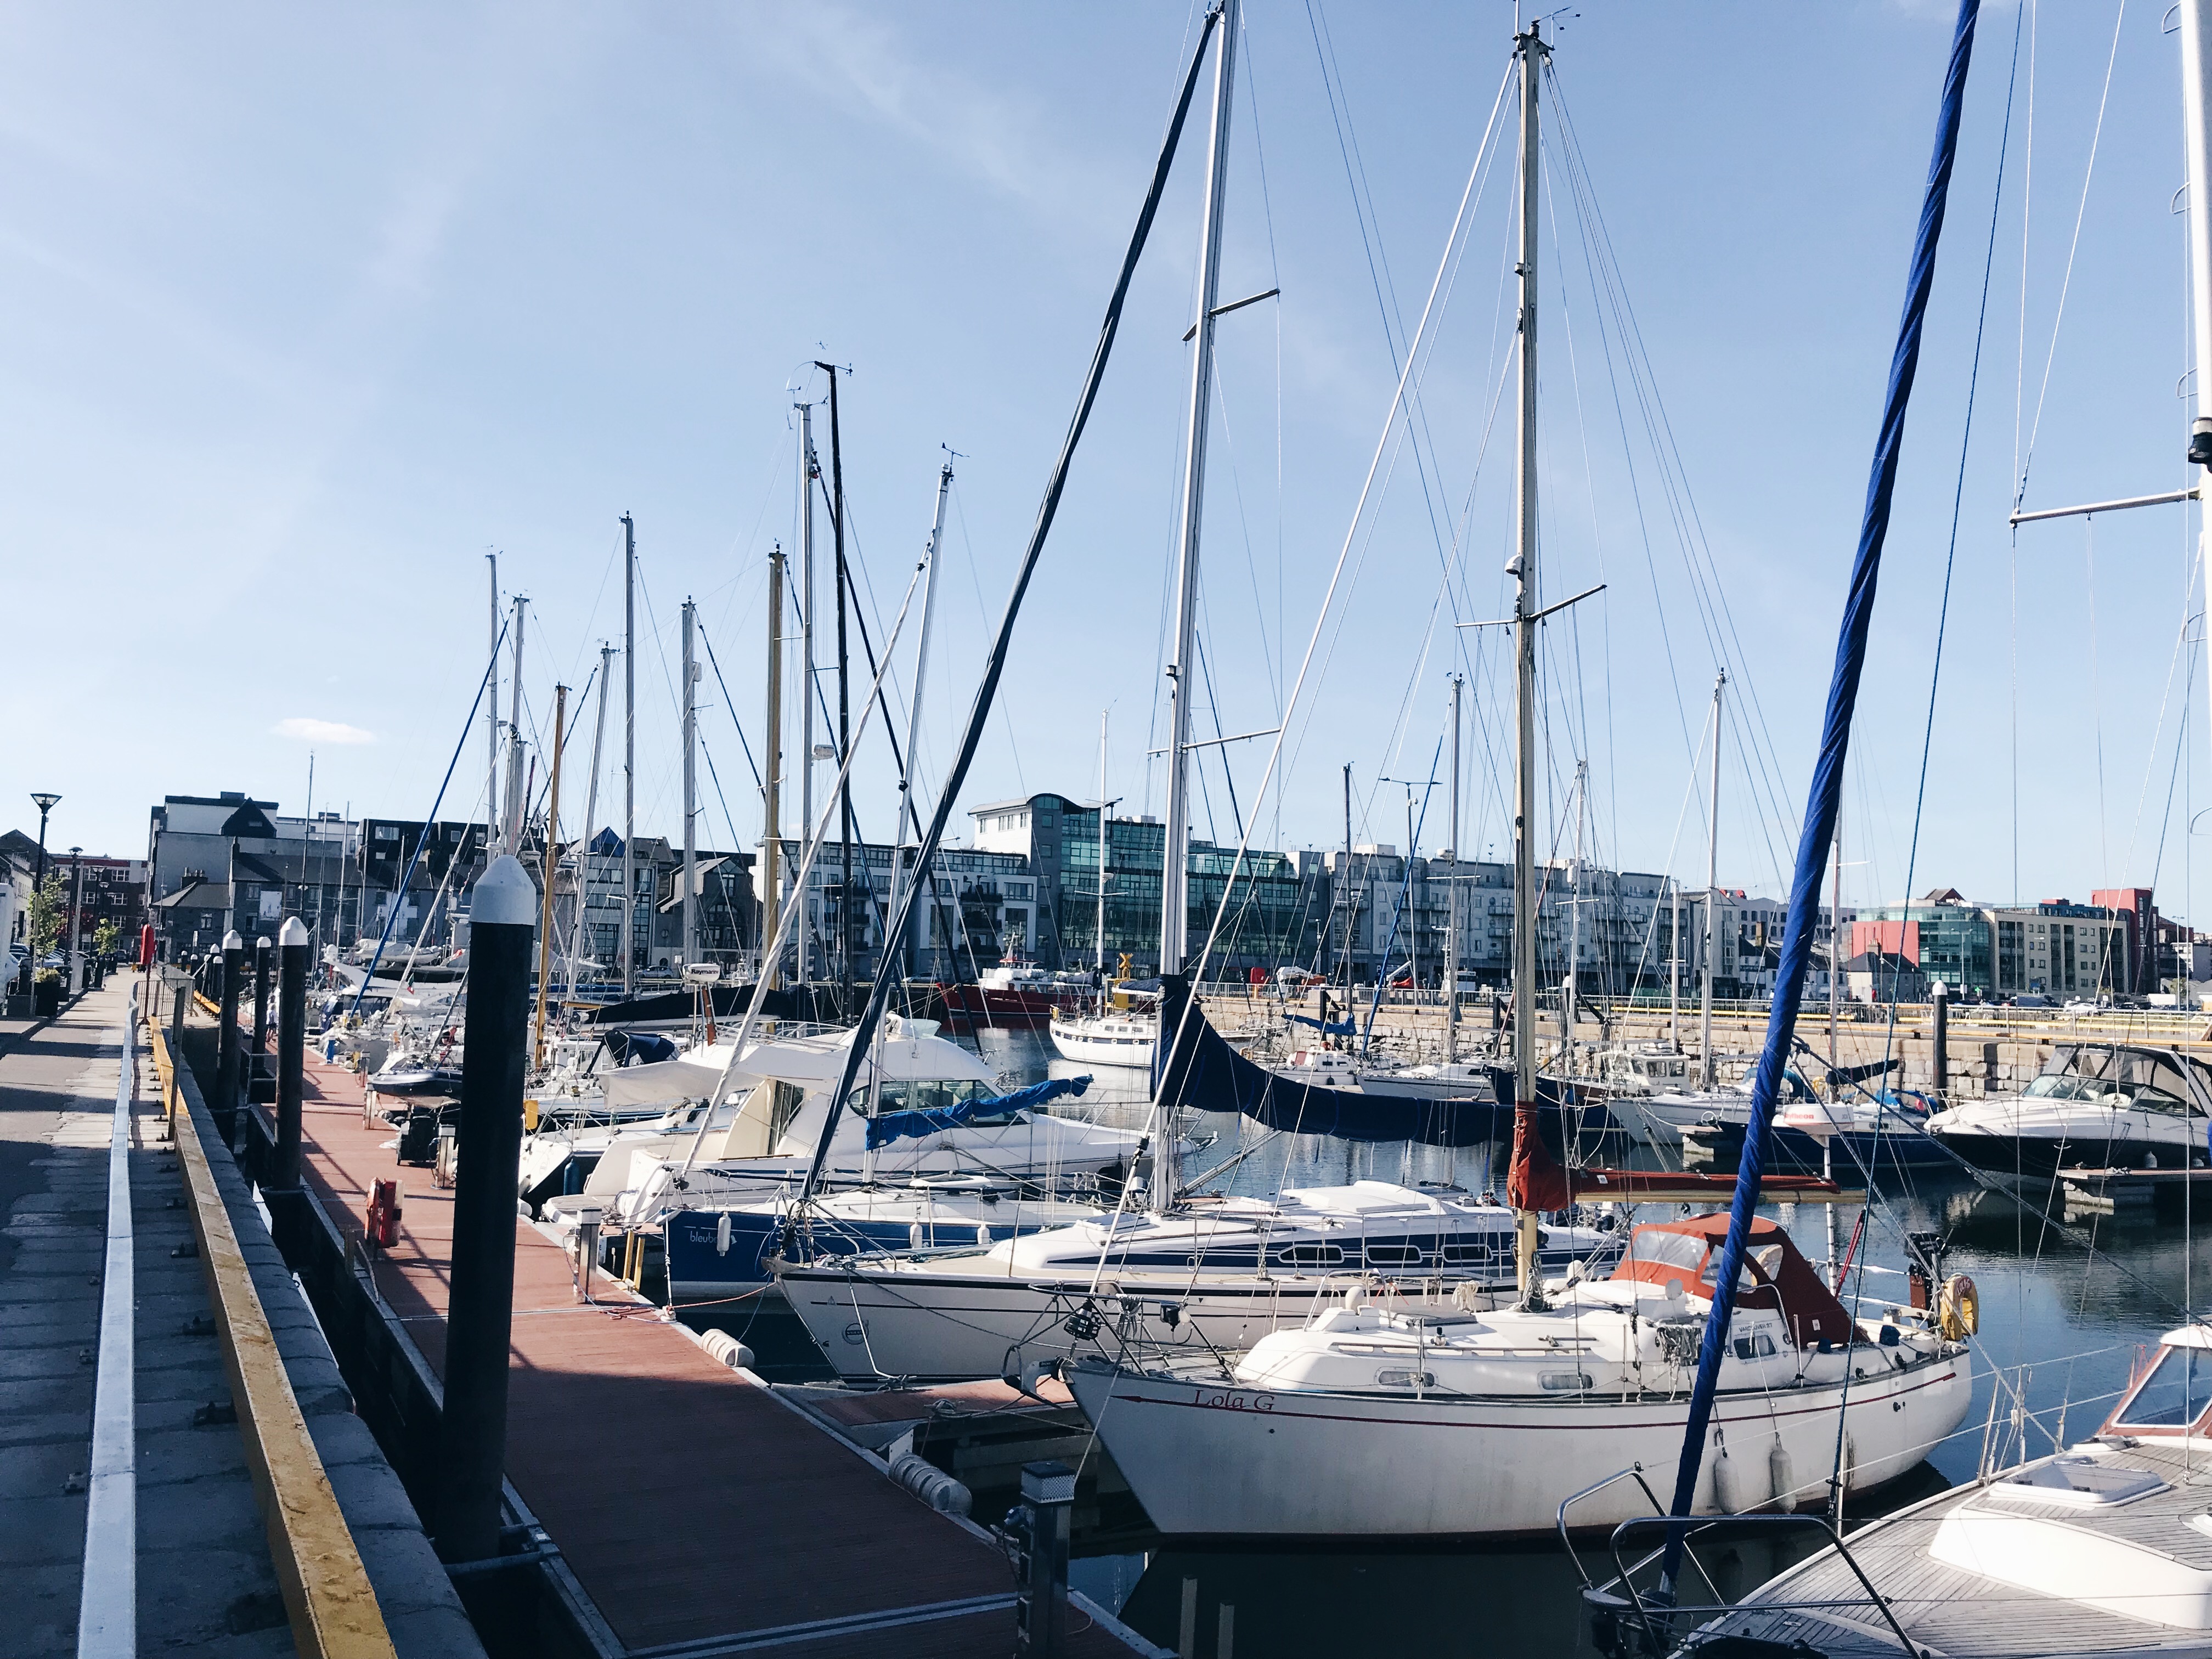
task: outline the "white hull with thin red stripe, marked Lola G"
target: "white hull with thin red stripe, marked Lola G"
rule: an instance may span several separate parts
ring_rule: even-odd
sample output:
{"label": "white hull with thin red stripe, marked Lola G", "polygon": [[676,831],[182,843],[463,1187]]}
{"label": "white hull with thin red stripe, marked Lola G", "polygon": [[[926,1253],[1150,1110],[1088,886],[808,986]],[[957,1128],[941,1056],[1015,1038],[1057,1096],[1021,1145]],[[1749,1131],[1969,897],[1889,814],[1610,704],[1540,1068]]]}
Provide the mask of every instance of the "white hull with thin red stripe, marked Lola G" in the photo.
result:
{"label": "white hull with thin red stripe, marked Lola G", "polygon": [[[1674,1398],[1533,1402],[1303,1394],[1113,1371],[1068,1371],[1115,1467],[1170,1537],[1502,1537],[1553,1535],[1559,1502],[1641,1462],[1666,1502],[1688,1420]],[[1966,1413],[1964,1354],[1854,1378],[1849,1489],[1918,1464]],[[1796,1504],[1820,1504],[1836,1460],[1838,1385],[1723,1394],[1712,1422],[1754,1502],[1772,1502],[1776,1438]],[[1717,1513],[1708,1447],[1697,1511]],[[1575,1506],[1571,1522],[1648,1515],[1632,1482]]]}

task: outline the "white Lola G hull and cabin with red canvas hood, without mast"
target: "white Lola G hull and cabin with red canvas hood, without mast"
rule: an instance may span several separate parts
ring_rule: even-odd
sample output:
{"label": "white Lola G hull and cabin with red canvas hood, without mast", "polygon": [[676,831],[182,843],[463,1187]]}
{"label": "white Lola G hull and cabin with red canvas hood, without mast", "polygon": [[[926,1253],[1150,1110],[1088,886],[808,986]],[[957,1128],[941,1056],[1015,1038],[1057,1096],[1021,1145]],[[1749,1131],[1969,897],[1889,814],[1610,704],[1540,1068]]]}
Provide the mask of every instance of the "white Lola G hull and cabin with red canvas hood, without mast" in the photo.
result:
{"label": "white Lola G hull and cabin with red canvas hood, without mast", "polygon": [[[1177,1537],[1542,1535],[1628,1464],[1672,1467],[1728,1217],[1641,1225],[1608,1279],[1398,1303],[1352,1292],[1223,1367],[1082,1360],[1064,1371],[1115,1467]],[[1752,1230],[1697,1511],[1790,1506],[1902,1475],[1966,1413],[1964,1340],[1931,1316],[1854,1323],[1790,1237]],[[1648,1513],[1619,1484],[1582,1526]]]}

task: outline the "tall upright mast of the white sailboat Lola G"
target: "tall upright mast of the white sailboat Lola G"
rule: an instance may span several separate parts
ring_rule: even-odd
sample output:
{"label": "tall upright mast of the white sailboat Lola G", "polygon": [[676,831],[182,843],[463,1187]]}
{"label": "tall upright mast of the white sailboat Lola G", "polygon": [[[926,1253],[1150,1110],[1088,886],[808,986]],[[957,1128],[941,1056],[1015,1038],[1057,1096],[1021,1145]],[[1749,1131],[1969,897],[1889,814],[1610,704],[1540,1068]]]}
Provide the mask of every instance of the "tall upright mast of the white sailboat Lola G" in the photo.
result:
{"label": "tall upright mast of the white sailboat Lola G", "polygon": [[[1537,88],[1544,75],[1540,24],[1515,38],[1522,60],[1520,157],[1520,442],[1513,447],[1513,1106],[1535,1104],[1535,252]],[[1535,1287],[1535,1212],[1515,1214],[1515,1263],[1524,1292]]]}

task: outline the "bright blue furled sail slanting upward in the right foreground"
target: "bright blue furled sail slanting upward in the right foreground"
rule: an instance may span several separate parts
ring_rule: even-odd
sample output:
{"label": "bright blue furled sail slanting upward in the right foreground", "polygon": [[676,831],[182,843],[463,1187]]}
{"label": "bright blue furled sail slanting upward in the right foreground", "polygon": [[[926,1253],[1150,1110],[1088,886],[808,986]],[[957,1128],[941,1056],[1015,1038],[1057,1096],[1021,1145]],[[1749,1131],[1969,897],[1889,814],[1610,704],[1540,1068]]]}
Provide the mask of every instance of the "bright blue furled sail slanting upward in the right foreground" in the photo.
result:
{"label": "bright blue furled sail slanting upward in the right foreground", "polygon": [[[1913,265],[1905,285],[1905,316],[1898,323],[1898,347],[1889,361],[1889,396],[1882,403],[1882,427],[1874,445],[1874,471],[1867,480],[1867,509],[1858,529],[1858,555],[1851,564],[1851,586],[1843,604],[1843,628],[1836,639],[1836,670],[1827,688],[1827,717],[1820,728],[1820,759],[1812,774],[1812,796],[1805,803],[1805,827],[1798,836],[1796,872],[1790,883],[1790,920],[1783,929],[1783,953],[1774,975],[1774,1004],[1767,1013],[1767,1042],[1759,1055],[1752,1082],[1752,1121],[1743,1135],[1743,1161],[1736,1166],[1736,1197],[1728,1219],[1728,1241],[1721,1245],[1714,1272],[1712,1314],[1705,1321],[1703,1347],[1697,1356],[1697,1387],[1690,1394],[1690,1420],[1681,1438],[1681,1464],[1674,1471],[1674,1515],[1688,1515],[1697,1495],[1697,1475],[1705,1453],[1705,1431],[1712,1422],[1712,1396],[1719,1385],[1721,1354],[1728,1345],[1728,1321],[1736,1303],[1736,1274],[1750,1241],[1752,1217],[1759,1210],[1759,1181],[1767,1166],[1767,1141],[1774,1133],[1774,1099],[1781,1095],[1790,1040],[1796,1031],[1798,1004],[1805,995],[1805,964],[1812,958],[1812,936],[1820,909],[1820,876],[1827,874],[1827,849],[1836,841],[1836,807],[1843,794],[1843,761],[1851,745],[1851,710],[1858,703],[1858,675],[1867,661],[1867,630],[1874,622],[1874,591],[1882,571],[1882,542],[1889,538],[1889,500],[1898,484],[1898,451],[1905,445],[1905,409],[1920,367],[1920,330],[1927,323],[1929,292],[1936,285],[1936,246],[1942,239],[1944,204],[1951,195],[1951,164],[1958,157],[1958,124],[1966,102],[1966,66],[1973,62],[1973,27],[1980,0],[1960,0],[1958,29],[1951,35],[1951,69],[1942,84],[1942,113],[1936,117],[1936,157],[1929,161],[1927,192],[1920,201],[1920,232],[1913,239]],[[1661,1582],[1672,1586],[1681,1571],[1683,1531],[1670,1528]]]}

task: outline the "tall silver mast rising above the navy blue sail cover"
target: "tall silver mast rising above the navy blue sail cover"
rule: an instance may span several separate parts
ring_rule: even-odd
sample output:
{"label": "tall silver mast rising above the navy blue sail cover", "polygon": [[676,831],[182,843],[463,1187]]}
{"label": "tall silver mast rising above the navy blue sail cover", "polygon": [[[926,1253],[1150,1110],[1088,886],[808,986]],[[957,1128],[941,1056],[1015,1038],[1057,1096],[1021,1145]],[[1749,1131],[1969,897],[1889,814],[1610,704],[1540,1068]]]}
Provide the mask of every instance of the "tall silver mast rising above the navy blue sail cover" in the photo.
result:
{"label": "tall silver mast rising above the navy blue sail cover", "polygon": [[1214,133],[1199,230],[1197,352],[1190,356],[1190,422],[1183,436],[1183,524],[1177,549],[1175,655],[1168,659],[1168,845],[1159,878],[1159,971],[1179,973],[1190,929],[1190,701],[1199,688],[1199,526],[1206,518],[1206,429],[1214,385],[1214,305],[1221,296],[1221,208],[1230,175],[1230,95],[1237,80],[1237,7],[1221,0],[1214,42]]}

